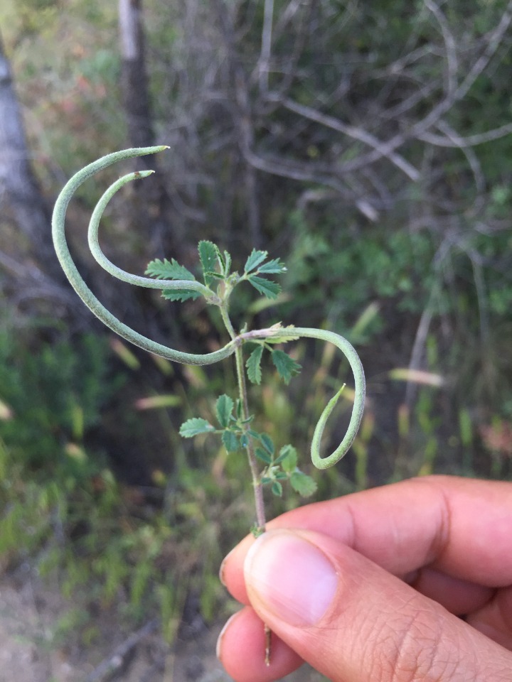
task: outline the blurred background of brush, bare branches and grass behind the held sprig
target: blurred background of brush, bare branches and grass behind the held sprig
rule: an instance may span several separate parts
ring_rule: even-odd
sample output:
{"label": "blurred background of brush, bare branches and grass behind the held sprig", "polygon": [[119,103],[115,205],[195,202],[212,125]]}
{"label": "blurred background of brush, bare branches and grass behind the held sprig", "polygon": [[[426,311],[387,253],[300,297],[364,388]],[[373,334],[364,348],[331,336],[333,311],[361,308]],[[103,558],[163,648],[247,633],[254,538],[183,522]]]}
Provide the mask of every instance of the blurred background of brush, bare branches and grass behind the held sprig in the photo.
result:
{"label": "blurred background of brush, bare branches and grass behind the held sprig", "polygon": [[[244,458],[178,435],[235,394],[232,364],[129,347],[53,254],[55,197],[106,153],[170,146],[127,166],[157,172],[105,215],[116,264],[193,270],[199,239],[239,267],[268,250],[288,267],[283,293],[237,292],[237,325],[325,327],[360,352],[363,426],[327,472],[309,442],[351,386],[346,362],[298,342],[302,374],[284,386],[267,368],[250,395],[260,428],[302,453],[314,499],[432,472],[511,479],[511,24],[504,0],[2,1],[0,634],[20,613],[33,624],[27,680],[227,679],[205,660],[235,609],[217,572],[253,521]],[[70,205],[80,272],[139,332],[214,350],[201,300],[115,281],[88,253],[92,208],[123,171]],[[326,447],[350,408],[348,388]],[[270,499],[269,514],[297,504]]]}

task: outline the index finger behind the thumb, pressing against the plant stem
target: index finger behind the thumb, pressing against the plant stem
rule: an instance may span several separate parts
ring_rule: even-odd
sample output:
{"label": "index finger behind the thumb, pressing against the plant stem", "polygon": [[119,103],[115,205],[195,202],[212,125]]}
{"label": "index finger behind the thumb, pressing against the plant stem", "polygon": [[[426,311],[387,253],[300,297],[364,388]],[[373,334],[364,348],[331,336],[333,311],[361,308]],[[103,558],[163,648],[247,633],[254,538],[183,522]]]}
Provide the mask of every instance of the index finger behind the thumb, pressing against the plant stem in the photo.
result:
{"label": "index finger behind the thumb, pressing against the plant stem", "polygon": [[[512,484],[432,476],[289,511],[269,529],[317,531],[351,546],[393,575],[425,566],[470,583],[512,583]],[[252,538],[225,559],[223,583],[247,602],[242,565]]]}

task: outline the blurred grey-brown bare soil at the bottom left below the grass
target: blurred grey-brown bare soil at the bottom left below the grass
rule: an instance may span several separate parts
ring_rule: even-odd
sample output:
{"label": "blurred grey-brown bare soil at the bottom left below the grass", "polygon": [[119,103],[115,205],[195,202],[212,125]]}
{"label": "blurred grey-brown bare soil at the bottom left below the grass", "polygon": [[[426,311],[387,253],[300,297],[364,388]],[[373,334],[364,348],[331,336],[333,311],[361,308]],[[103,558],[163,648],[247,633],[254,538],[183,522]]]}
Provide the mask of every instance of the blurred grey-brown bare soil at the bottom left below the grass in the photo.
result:
{"label": "blurred grey-brown bare soil at the bottom left below the grass", "polygon": [[[84,646],[70,643],[73,638],[65,634],[71,606],[56,590],[30,578],[0,579],[0,682],[231,681],[215,657],[222,624],[185,633],[169,648],[156,629],[151,632],[151,625],[130,633],[102,614],[95,624],[101,637]],[[129,646],[134,641],[137,644]],[[303,666],[286,680],[325,678]]]}

